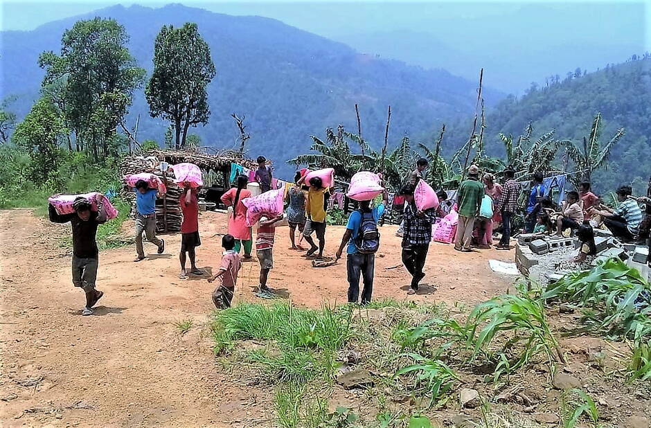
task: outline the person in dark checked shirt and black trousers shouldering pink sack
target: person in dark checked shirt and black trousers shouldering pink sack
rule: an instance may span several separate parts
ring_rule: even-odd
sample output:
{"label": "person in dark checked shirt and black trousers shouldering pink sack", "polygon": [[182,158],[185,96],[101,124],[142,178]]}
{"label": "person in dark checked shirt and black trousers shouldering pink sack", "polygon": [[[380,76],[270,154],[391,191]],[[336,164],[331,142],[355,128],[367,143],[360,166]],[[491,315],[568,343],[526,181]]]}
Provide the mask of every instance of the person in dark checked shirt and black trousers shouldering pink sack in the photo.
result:
{"label": "person in dark checked shirt and black trousers shouldering pink sack", "polygon": [[400,195],[404,197],[402,264],[411,274],[411,285],[407,294],[416,294],[420,280],[425,278],[422,269],[427,260],[431,242],[431,224],[434,222],[434,209],[419,211],[416,208],[413,190],[411,184],[407,184],[400,190]]}

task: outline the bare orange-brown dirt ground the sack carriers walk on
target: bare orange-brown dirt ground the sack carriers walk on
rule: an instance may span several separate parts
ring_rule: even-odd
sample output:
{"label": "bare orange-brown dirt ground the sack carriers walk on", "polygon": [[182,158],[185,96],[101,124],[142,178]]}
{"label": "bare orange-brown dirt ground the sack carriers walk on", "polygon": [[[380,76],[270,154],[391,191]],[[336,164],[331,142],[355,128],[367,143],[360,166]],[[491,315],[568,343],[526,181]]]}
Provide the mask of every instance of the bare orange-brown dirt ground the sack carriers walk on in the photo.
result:
{"label": "bare orange-brown dirt ground the sack carriers walk on", "polygon": [[[202,213],[197,264],[218,265],[225,217]],[[374,298],[407,298],[395,228],[382,229]],[[212,285],[179,280],[179,235],[166,238],[166,254],[134,264],[134,249],[100,253],[98,289],[105,292],[96,316],[81,316],[83,296],[71,285],[70,256],[58,247],[69,226],[34,217],[28,210],[0,211],[0,422],[14,426],[269,426],[268,391],[229,382],[211,354],[208,316]],[[334,253],[343,228],[328,229],[326,253]],[[280,228],[276,269],[269,285],[298,305],[343,303],[345,262],[313,268],[287,250]],[[145,247],[153,250],[151,244]],[[416,301],[472,304],[512,283],[490,271],[498,251],[456,253],[435,244]],[[392,268],[393,269],[387,269]],[[246,263],[235,301],[254,300],[258,264]],[[175,323],[192,319],[181,335]]]}

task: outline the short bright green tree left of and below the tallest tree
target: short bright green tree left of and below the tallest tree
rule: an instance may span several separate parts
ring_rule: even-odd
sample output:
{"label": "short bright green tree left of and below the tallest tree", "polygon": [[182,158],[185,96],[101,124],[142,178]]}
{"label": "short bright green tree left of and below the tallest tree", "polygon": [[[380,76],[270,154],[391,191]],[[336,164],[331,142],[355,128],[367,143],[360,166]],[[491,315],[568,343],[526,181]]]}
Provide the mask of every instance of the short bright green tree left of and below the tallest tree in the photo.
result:
{"label": "short bright green tree left of and below the tallest tree", "polygon": [[31,158],[30,176],[45,181],[59,163],[59,143],[68,130],[52,100],[42,97],[33,105],[24,121],[16,127],[12,139],[27,150]]}

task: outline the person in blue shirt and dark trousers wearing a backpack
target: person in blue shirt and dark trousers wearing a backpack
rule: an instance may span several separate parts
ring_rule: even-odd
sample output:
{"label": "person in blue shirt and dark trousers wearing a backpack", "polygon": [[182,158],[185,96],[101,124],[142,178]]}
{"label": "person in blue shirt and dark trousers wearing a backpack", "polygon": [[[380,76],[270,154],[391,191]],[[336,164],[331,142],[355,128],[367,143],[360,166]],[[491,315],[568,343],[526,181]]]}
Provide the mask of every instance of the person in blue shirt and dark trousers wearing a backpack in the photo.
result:
{"label": "person in blue shirt and dark trousers wearing a backpack", "polygon": [[[386,190],[382,195],[382,203],[371,208],[371,201],[360,201],[359,210],[353,211],[348,217],[348,224],[346,225],[346,233],[344,238],[341,238],[341,244],[337,250],[337,259],[341,258],[341,253],[344,248],[348,247],[346,253],[346,271],[348,273],[348,303],[357,303],[359,298],[359,276],[364,278],[364,289],[362,290],[362,305],[371,302],[371,295],[373,294],[373,276],[375,275],[375,252],[363,251],[357,247],[359,244],[358,235],[362,229],[362,220],[375,222],[375,230],[377,231],[377,221],[384,214],[384,208],[389,203],[389,195]],[[371,225],[372,226],[372,225]],[[380,235],[377,234],[377,244],[379,245]],[[377,248],[375,248],[377,251]]]}

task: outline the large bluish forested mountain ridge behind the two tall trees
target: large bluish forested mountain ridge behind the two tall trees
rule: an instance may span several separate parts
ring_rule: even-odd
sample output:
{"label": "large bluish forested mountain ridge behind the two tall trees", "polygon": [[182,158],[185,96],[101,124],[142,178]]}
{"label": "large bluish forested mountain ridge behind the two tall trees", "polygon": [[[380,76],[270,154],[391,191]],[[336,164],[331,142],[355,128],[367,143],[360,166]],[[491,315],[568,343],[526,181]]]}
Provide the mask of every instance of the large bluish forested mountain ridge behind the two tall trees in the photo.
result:
{"label": "large bluish forested mountain ridge behind the two tall trees", "polygon": [[[202,142],[235,145],[237,127],[230,114],[246,115],[251,155],[269,154],[278,166],[309,148],[310,134],[323,134],[339,123],[356,129],[359,103],[364,136],[380,144],[391,105],[391,141],[422,132],[444,118],[467,116],[473,109],[475,82],[443,70],[424,70],[402,62],[361,55],[344,44],[262,17],[220,15],[179,4],[152,9],[114,6],[92,14],[55,21],[33,31],[1,34],[2,96],[18,96],[9,109],[20,120],[38,96],[44,72],[42,51],[58,53],[66,28],[78,19],[112,17],[125,26],[130,51],[152,70],[154,38],[163,24],[195,22],[210,45],[217,75],[208,87],[212,111],[205,127],[190,129]],[[488,91],[489,101],[499,93]],[[140,140],[163,141],[167,123],[150,118],[143,91],[134,97],[127,121],[140,114]],[[286,167],[288,168],[288,167]]]}

